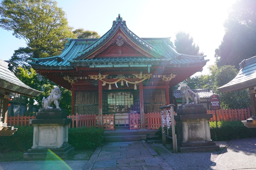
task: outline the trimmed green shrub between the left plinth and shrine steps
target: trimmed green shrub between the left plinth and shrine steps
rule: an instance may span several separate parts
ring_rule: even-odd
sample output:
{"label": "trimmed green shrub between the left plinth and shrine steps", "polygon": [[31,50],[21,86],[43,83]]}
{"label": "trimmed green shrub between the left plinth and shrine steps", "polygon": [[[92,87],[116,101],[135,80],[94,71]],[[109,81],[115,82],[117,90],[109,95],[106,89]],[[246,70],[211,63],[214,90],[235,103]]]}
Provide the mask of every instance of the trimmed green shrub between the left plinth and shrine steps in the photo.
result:
{"label": "trimmed green shrub between the left plinth and shrine steps", "polygon": [[75,149],[95,148],[103,144],[104,129],[99,128],[74,128],[69,129],[69,144]]}

